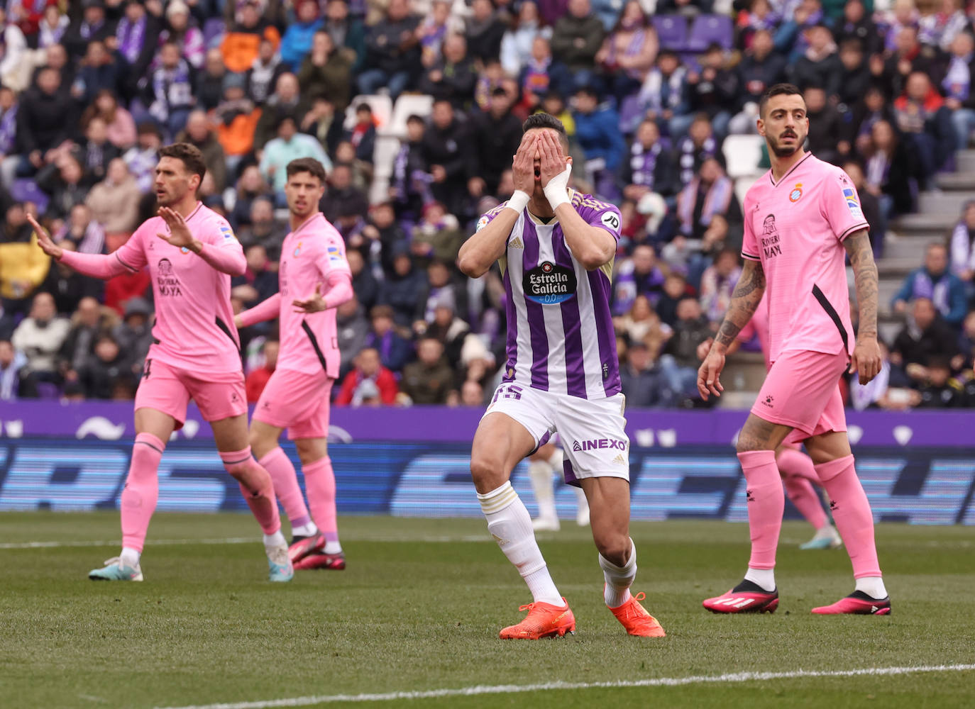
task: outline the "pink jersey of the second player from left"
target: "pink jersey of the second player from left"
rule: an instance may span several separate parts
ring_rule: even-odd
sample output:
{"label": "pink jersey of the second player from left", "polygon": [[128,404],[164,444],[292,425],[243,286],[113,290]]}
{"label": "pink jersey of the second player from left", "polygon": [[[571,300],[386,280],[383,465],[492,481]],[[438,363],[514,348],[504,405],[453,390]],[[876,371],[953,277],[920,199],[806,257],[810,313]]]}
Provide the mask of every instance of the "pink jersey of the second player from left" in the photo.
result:
{"label": "pink jersey of the second player from left", "polygon": [[314,374],[323,369],[332,379],[338,377],[338,335],[335,309],[318,313],[296,312],[293,300],[304,300],[322,284],[331,272],[348,274],[345,243],[325,216],[319,212],[285,238],[281,247],[278,282],[281,289],[280,338],[278,368]]}

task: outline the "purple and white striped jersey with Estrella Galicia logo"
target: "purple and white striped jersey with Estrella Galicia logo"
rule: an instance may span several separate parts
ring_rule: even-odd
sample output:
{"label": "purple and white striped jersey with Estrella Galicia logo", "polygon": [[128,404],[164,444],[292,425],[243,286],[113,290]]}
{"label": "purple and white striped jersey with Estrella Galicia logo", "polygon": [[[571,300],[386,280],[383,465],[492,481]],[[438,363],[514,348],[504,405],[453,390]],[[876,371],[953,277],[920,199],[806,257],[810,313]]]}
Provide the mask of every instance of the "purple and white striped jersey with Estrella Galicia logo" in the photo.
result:
{"label": "purple and white striped jersey with Estrella Galicia logo", "polygon": [[[619,209],[578,192],[571,193],[571,205],[619,241]],[[484,214],[478,230],[504,206]],[[507,294],[503,381],[586,399],[619,393],[609,313],[612,262],[586,271],[572,257],[558,220],[543,224],[525,209],[498,263]]]}

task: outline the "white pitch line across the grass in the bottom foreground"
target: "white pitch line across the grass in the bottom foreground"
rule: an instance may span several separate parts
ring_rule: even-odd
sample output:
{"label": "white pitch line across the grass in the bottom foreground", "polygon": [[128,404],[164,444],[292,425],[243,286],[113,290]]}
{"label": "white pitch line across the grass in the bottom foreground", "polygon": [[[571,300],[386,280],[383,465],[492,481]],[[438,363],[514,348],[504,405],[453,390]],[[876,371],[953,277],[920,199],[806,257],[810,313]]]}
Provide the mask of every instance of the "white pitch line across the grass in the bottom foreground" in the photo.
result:
{"label": "white pitch line across the grass in the bottom foreground", "polygon": [[[856,670],[794,670],[792,672],[735,672],[726,675],[697,675],[693,677],[659,677],[652,680],[619,680],[617,682],[546,682],[541,685],[477,685],[456,690],[390,691],[382,694],[323,694],[321,696],[295,696],[290,699],[265,699],[262,701],[223,702],[220,704],[193,704],[165,709],[273,709],[274,707],[312,706],[336,701],[395,701],[396,699],[439,699],[447,696],[474,696],[477,694],[515,694],[525,691],[546,690],[594,690],[627,689],[632,687],[681,687],[683,685],[722,684],[739,682],[766,682],[768,680],[793,680],[802,677],[860,677],[907,675],[916,672],[966,672],[975,670],[975,664],[921,665],[916,667],[867,667]],[[161,709],[157,707],[156,709]]]}

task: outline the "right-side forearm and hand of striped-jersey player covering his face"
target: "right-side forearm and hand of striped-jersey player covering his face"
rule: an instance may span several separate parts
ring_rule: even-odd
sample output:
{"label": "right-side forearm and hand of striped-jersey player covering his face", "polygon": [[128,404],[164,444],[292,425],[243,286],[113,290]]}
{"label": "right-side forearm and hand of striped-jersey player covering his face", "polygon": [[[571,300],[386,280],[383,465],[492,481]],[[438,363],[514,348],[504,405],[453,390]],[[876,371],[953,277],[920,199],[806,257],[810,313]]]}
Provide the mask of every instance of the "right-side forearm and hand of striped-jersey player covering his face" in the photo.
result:
{"label": "right-side forearm and hand of striped-jersey player covering his face", "polygon": [[616,254],[616,240],[605,229],[586,223],[568,201],[568,177],[572,166],[563,155],[559,141],[551,131],[539,131],[538,142],[542,155],[542,187],[559,217],[565,244],[586,271],[595,271]]}

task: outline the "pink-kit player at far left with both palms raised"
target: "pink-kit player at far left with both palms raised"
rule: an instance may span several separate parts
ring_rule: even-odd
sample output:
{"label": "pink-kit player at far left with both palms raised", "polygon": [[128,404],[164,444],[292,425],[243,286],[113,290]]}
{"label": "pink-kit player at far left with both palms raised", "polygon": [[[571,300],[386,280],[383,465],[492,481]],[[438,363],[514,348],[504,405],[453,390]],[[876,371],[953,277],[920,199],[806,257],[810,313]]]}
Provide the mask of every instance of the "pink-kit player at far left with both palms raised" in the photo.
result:
{"label": "pink-kit player at far left with both palms raised", "polygon": [[49,256],[98,279],[148,268],[156,322],[136,393],[136,444],[122,492],[122,553],[95,569],[95,580],[142,580],[139,557],[159,498],[158,467],[166,441],[186,419],[192,398],[214,430],[223,466],[264,532],[269,577],[293,576],[281,534],[271,477],[251,454],[240,343],[231,324],[230,277],[244,273],[240,243],[223,217],[201,205],[200,151],[186,143],[163,148],[156,167],[158,216],[108,255],[62,250],[31,218]]}

